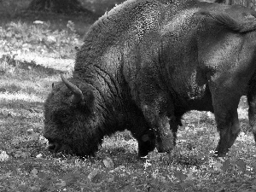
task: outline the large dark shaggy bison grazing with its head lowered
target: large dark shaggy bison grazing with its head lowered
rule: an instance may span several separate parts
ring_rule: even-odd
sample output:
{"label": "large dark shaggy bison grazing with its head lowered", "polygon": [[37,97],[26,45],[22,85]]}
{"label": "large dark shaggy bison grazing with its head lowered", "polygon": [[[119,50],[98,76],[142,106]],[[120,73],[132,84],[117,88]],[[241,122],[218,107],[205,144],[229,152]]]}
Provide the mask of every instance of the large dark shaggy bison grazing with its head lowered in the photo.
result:
{"label": "large dark shaggy bison grazing with its head lowered", "polygon": [[214,113],[224,156],[239,134],[247,95],[256,137],[256,18],[241,6],[197,0],[131,0],[85,34],[73,77],[45,102],[52,152],[93,155],[102,138],[129,130],[138,155],[171,151],[189,110]]}

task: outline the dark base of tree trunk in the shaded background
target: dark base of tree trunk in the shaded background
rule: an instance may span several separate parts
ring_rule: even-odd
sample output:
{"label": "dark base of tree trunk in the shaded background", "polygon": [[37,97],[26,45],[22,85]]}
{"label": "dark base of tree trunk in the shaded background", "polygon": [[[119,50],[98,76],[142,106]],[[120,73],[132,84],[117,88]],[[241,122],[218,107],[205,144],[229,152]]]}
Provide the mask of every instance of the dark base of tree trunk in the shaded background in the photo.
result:
{"label": "dark base of tree trunk in the shaded background", "polygon": [[[28,9],[59,14],[90,12],[90,10],[84,9],[79,0],[32,0],[28,5]],[[92,12],[90,13],[92,14]]]}

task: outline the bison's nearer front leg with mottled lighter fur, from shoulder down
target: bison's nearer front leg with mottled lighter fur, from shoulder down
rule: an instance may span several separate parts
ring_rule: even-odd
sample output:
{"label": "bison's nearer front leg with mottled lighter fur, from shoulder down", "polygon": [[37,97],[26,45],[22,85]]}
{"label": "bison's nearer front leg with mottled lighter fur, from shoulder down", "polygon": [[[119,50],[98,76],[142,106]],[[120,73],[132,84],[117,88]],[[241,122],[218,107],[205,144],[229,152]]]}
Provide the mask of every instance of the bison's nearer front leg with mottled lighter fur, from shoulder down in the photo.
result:
{"label": "bison's nearer front leg with mottled lighter fur, from shoulder down", "polygon": [[137,73],[127,77],[132,99],[143,112],[143,117],[150,129],[153,130],[158,151],[169,152],[174,147],[172,127],[168,118],[174,111],[172,96],[160,77],[163,74],[160,73],[157,63],[142,61],[140,66],[142,68]]}

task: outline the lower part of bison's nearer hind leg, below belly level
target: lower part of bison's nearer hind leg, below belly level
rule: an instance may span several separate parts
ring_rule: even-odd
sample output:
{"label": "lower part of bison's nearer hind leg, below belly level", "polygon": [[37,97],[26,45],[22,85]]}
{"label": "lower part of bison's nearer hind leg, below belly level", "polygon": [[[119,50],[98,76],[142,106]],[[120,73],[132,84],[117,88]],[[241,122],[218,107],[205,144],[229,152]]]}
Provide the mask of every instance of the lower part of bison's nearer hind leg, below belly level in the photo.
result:
{"label": "lower part of bison's nearer hind leg, below belly level", "polygon": [[[234,82],[234,81],[230,81]],[[232,84],[231,84],[232,85]],[[237,87],[227,84],[215,84],[210,87],[212,92],[212,104],[219,131],[218,147],[215,154],[225,156],[236,141],[240,132],[237,108],[241,98],[241,91]],[[215,89],[218,87],[218,89]]]}

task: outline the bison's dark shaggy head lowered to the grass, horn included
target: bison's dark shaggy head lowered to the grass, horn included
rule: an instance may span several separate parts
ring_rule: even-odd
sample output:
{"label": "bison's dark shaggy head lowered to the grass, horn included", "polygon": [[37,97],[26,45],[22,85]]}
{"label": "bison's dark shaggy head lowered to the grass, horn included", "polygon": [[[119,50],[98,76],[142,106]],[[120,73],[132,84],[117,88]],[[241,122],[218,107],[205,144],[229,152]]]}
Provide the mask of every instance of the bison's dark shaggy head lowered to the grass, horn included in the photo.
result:
{"label": "bison's dark shaggy head lowered to the grass, horn included", "polygon": [[103,136],[92,87],[78,79],[61,79],[61,83],[53,85],[44,105],[44,137],[49,141],[49,150],[80,156],[94,154]]}

